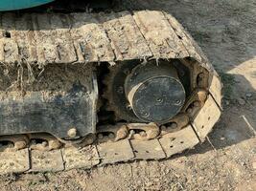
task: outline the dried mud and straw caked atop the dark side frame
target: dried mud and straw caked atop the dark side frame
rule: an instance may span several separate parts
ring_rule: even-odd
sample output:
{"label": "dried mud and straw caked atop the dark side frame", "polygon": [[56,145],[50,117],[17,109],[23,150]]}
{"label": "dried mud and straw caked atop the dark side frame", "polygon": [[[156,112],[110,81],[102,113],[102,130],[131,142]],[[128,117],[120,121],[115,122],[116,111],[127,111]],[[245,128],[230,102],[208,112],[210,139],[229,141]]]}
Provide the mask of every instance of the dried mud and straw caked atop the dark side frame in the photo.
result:
{"label": "dried mud and straw caked atop the dark side frame", "polygon": [[0,74],[0,100],[29,98],[32,92],[40,92],[45,101],[55,95],[64,96],[78,80],[86,87],[91,77],[88,67],[74,64],[47,66],[41,70],[23,66],[6,68]]}

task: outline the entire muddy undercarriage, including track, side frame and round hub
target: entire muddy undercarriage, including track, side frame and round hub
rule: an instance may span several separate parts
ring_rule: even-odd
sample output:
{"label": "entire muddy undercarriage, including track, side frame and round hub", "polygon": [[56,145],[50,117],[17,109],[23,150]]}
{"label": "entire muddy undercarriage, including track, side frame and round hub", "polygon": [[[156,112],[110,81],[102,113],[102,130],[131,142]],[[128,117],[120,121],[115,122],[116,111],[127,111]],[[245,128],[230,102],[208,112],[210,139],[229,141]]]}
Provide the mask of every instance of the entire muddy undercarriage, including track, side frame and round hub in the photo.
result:
{"label": "entire muddy undercarriage, including track, side frame and round hub", "polygon": [[0,31],[2,174],[168,159],[221,116],[219,75],[164,11],[3,12]]}

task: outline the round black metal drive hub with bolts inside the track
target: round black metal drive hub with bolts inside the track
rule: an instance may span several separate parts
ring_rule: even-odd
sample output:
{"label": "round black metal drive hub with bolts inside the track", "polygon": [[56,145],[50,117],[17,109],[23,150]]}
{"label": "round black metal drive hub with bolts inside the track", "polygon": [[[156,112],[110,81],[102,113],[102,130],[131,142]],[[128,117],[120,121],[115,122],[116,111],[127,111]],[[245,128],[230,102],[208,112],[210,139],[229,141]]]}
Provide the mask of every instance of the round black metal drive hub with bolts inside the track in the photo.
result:
{"label": "round black metal drive hub with bolts inside the track", "polygon": [[165,62],[136,66],[126,79],[125,91],[136,117],[147,122],[167,122],[185,101],[175,67]]}

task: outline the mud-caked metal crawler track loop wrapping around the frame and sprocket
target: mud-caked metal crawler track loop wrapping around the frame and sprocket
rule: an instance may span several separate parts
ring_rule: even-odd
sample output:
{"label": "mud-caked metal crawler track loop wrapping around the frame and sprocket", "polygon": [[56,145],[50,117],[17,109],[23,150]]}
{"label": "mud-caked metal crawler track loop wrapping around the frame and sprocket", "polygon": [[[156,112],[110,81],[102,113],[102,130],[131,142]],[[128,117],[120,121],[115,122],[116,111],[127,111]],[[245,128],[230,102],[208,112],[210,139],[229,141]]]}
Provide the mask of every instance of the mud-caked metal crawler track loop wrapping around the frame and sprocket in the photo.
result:
{"label": "mud-caked metal crawler track loop wrapping around the frame and sprocket", "polygon": [[[192,94],[169,125],[124,121],[103,124],[95,135],[78,140],[77,144],[46,134],[0,137],[0,142],[14,145],[1,147],[0,174],[169,159],[204,141],[221,116],[219,75],[192,37],[164,11],[3,13],[1,21],[2,69],[26,66],[43,73],[48,66],[109,63],[112,72],[105,77],[107,86],[121,62],[174,59],[190,69]],[[107,91],[104,97],[108,110],[116,110],[111,106],[111,90]],[[70,137],[75,133],[72,129],[68,132]],[[33,142],[36,138],[46,142]]]}

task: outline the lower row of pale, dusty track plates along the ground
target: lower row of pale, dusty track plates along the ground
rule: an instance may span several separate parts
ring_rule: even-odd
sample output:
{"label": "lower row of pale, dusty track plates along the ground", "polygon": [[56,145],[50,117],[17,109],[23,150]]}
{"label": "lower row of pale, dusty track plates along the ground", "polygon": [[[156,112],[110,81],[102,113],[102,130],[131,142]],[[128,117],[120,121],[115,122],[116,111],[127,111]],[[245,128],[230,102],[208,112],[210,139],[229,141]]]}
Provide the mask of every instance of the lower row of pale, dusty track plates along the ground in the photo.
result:
{"label": "lower row of pale, dusty track plates along the ground", "polygon": [[[210,118],[201,119],[202,115]],[[163,130],[156,138],[148,140],[129,137],[117,141],[111,138],[97,141],[97,138],[96,143],[83,147],[78,145],[64,146],[56,150],[7,150],[0,152],[0,173],[57,172],[76,168],[89,169],[97,165],[136,159],[169,159],[203,141],[220,115],[219,106],[209,96],[195,121],[179,131],[166,133]],[[205,122],[204,127],[201,121]]]}

